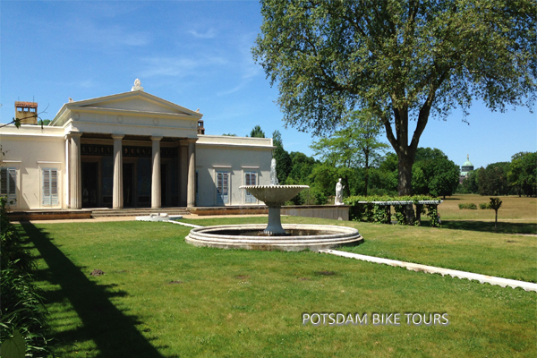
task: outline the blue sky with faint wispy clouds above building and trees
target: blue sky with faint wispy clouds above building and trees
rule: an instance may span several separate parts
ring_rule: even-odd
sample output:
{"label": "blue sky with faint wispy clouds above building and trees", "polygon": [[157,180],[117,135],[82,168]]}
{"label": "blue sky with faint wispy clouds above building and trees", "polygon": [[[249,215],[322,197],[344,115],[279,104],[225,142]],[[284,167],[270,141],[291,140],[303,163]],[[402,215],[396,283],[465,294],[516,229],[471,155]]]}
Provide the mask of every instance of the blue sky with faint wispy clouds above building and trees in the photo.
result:
{"label": "blue sky with faint wispy clouds above building and trees", "polygon": [[[260,31],[257,1],[0,2],[0,122],[14,101],[35,100],[52,119],[67,102],[144,89],[204,115],[207,134],[246,135],[256,124],[282,133],[288,151],[312,154],[311,135],[285,128],[251,47]],[[462,121],[430,120],[421,147],[462,165],[508,161],[537,150],[537,116],[525,107],[490,112],[476,101]]]}

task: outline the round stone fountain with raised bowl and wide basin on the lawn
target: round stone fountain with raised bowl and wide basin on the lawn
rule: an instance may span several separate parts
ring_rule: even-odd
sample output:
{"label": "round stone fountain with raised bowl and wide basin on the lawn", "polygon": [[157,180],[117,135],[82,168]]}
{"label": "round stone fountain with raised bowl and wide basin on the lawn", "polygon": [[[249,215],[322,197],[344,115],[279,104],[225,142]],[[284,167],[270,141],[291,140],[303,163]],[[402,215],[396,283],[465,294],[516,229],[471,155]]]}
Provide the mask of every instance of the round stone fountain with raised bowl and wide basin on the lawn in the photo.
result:
{"label": "round stone fountain with raised bowl and wide basin on the lawn", "polygon": [[187,243],[222,249],[302,251],[333,248],[362,243],[358,230],[346,226],[298,225],[282,226],[280,209],[308,185],[279,185],[276,160],[270,165],[270,185],[243,185],[268,206],[268,225],[223,225],[193,228],[186,236]]}

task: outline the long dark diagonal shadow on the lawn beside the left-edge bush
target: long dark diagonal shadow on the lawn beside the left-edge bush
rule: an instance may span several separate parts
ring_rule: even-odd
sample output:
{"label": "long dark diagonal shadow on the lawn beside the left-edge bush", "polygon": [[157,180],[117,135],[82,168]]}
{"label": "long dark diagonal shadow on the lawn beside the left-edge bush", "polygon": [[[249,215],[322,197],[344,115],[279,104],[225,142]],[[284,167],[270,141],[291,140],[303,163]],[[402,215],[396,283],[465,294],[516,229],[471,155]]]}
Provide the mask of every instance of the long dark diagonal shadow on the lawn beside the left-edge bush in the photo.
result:
{"label": "long dark diagonal shadow on the lawn beside the left-edge bush", "polygon": [[[163,357],[136,329],[135,325],[141,321],[135,316],[125,315],[110,302],[111,297],[126,293],[110,292],[113,286],[98,285],[90,280],[82,272],[83,268],[75,266],[43,230],[32,224],[21,227],[48,265],[47,269],[36,272],[38,279],[61,286],[59,291],[44,294],[47,303],[68,300],[82,321],[82,327],[58,333],[56,338],[60,342],[72,345],[91,340],[97,345],[98,354],[95,356],[98,357]],[[77,348],[72,346],[72,349]]]}

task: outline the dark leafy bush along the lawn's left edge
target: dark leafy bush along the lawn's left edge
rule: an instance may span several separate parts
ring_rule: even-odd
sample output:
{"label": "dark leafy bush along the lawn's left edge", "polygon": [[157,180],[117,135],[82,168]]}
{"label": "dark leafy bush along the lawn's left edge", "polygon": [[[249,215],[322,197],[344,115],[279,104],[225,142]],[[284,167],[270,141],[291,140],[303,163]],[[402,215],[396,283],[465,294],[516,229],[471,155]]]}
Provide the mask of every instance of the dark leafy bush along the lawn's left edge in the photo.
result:
{"label": "dark leafy bush along the lawn's left edge", "polygon": [[25,346],[26,356],[48,356],[51,339],[48,338],[46,311],[30,275],[33,260],[22,248],[19,234],[7,219],[6,201],[0,198],[0,341],[3,348]]}

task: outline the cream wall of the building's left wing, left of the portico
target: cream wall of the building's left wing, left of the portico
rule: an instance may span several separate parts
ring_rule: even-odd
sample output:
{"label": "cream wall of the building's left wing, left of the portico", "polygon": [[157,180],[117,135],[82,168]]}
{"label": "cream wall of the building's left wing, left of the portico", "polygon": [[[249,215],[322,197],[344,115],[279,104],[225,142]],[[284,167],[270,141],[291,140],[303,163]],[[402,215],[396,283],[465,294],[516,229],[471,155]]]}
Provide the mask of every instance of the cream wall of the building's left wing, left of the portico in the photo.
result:
{"label": "cream wall of the building's left wing, left of the portico", "polygon": [[[2,128],[0,143],[5,153],[3,167],[17,169],[17,201],[12,209],[60,209],[64,202],[65,141],[62,128],[21,125]],[[44,206],[42,170],[58,171],[58,204]]]}

